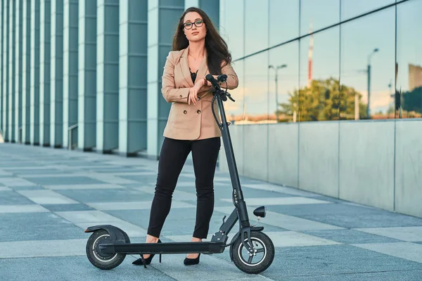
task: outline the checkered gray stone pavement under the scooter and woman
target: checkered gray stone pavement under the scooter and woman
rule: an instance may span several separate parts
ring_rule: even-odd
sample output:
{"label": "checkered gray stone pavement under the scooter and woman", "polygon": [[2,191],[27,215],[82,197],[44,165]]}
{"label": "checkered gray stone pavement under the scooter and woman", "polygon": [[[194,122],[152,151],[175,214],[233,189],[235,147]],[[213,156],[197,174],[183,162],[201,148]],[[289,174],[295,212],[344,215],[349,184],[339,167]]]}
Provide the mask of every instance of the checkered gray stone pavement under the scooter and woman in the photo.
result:
{"label": "checkered gray stone pavement under the scooter and woman", "polygon": [[[84,228],[110,223],[131,241],[144,242],[157,164],[1,144],[0,280],[422,280],[421,218],[244,177],[246,203],[267,206],[258,226],[276,246],[274,262],[261,275],[242,273],[229,251],[201,255],[197,266],[184,266],[185,254],[170,254],[148,268],[132,265],[136,255],[113,270],[95,268],[85,254]],[[194,181],[193,167],[186,165],[163,242],[190,240]],[[217,172],[215,195],[210,234],[233,209],[228,174]]]}

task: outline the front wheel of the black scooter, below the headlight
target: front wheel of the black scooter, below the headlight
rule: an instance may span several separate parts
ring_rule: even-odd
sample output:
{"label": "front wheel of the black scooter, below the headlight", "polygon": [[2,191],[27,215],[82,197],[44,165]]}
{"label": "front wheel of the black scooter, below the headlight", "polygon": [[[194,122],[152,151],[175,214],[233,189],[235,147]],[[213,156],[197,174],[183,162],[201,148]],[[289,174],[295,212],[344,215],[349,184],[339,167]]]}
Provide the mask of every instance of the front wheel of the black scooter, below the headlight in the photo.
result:
{"label": "front wheel of the black scooter, below the headlight", "polygon": [[[237,268],[244,273],[258,274],[271,266],[274,260],[274,244],[267,235],[260,231],[252,231],[250,240],[255,248],[255,253],[250,254],[242,244],[241,236],[231,245],[231,255]],[[248,240],[246,239],[245,242]]]}

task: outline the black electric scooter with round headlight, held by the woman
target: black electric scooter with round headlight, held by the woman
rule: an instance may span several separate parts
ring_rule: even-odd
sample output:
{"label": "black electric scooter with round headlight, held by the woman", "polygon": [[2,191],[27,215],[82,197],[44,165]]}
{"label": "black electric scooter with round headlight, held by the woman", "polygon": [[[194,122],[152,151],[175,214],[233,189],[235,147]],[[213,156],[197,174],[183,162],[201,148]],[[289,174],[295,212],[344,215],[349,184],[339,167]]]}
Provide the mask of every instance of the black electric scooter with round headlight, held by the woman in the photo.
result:
{"label": "black electric scooter with round headlight, held by the woman", "polygon": [[[274,260],[274,244],[271,239],[265,235],[263,226],[257,227],[250,225],[248,210],[243,198],[241,183],[238,176],[234,151],[231,145],[229,133],[230,123],[226,122],[223,101],[231,98],[230,93],[221,89],[219,82],[226,82],[227,75],[222,74],[215,79],[211,74],[205,77],[211,82],[212,90],[212,114],[215,121],[222,131],[222,139],[226,151],[227,163],[233,187],[232,199],[234,210],[229,218],[223,217],[222,226],[219,231],[212,235],[210,242],[162,242],[162,243],[131,243],[129,236],[120,228],[110,225],[91,226],[84,230],[85,233],[92,233],[87,241],[87,257],[89,261],[97,268],[109,270],[122,263],[127,254],[221,254],[226,247],[230,247],[230,258],[236,267],[245,273],[257,274],[269,268]],[[217,105],[222,119],[222,124],[215,115],[214,102],[217,99]],[[257,220],[264,218],[266,207],[261,206],[253,211]],[[227,243],[230,230],[238,222],[238,232]],[[254,261],[256,259],[256,261]],[[161,262],[161,259],[160,259]],[[143,264],[146,267],[145,263]]]}

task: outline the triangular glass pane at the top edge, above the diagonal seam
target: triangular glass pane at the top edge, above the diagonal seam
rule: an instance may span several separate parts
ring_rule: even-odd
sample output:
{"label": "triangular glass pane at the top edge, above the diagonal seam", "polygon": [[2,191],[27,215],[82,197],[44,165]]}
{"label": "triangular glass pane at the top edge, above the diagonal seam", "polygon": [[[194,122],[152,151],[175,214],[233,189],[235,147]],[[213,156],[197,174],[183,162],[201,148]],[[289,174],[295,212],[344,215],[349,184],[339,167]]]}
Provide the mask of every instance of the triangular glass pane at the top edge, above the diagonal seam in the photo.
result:
{"label": "triangular glass pane at the top edge, above the diagonal seam", "polygon": [[395,0],[340,0],[341,20],[348,20],[358,15],[368,13],[383,6],[395,3]]}

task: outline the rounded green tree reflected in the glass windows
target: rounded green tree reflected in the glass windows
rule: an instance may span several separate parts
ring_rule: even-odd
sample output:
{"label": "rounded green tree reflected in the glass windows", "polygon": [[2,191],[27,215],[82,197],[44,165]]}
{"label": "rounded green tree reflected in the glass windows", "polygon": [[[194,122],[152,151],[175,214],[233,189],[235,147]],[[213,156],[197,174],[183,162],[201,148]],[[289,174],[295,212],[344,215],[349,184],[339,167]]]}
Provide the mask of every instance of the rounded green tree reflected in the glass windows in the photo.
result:
{"label": "rounded green tree reflected in the glass windows", "polygon": [[366,115],[362,94],[352,87],[341,85],[337,79],[312,80],[310,86],[288,93],[288,103],[281,103],[282,115],[299,116],[300,121],[354,119],[354,100],[358,97],[359,118]]}

